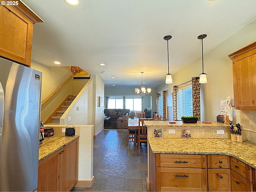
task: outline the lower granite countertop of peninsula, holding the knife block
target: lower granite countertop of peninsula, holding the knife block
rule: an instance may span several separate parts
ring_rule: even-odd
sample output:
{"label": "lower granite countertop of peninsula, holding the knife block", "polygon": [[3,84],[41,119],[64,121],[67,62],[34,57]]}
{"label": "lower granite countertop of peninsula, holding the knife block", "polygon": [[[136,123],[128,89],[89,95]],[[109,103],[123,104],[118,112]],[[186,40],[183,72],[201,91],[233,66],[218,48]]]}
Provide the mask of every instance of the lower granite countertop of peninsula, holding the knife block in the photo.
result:
{"label": "lower granite countertop of peninsula, holding the knife block", "polygon": [[256,168],[256,143],[224,138],[148,138],[153,153],[229,155]]}

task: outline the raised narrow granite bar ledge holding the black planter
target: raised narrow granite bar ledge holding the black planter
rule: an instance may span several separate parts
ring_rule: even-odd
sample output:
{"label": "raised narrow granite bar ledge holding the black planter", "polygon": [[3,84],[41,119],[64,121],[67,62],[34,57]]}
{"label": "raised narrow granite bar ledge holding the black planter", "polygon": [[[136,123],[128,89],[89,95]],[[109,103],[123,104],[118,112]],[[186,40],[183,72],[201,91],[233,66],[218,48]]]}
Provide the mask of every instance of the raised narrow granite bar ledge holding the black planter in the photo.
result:
{"label": "raised narrow granite bar ledge holding the black planter", "polygon": [[144,121],[147,127],[226,127],[229,128],[229,124],[212,122],[212,124],[202,123],[182,123],[182,121],[175,121],[176,123],[168,123],[168,121]]}

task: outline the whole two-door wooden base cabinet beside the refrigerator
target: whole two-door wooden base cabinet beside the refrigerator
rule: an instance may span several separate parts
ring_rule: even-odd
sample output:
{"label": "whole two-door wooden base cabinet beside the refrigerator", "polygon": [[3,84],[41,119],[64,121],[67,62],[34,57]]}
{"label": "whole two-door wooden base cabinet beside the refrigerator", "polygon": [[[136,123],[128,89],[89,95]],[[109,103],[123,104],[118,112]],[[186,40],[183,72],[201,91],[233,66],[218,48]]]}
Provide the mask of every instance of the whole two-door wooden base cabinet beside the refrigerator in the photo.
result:
{"label": "whole two-door wooden base cabinet beside the refrigerator", "polygon": [[70,191],[78,180],[78,139],[38,164],[38,191]]}

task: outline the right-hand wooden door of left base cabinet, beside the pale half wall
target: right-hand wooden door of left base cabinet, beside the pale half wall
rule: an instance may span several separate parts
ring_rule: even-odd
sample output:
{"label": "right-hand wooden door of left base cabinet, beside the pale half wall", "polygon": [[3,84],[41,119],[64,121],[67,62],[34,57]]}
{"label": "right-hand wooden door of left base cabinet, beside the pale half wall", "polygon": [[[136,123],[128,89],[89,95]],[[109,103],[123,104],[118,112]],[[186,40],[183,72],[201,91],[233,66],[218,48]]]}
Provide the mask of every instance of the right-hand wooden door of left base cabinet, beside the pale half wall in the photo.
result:
{"label": "right-hand wooden door of left base cabinet, beside the pale half wall", "polygon": [[78,180],[78,139],[61,149],[60,191],[70,191]]}

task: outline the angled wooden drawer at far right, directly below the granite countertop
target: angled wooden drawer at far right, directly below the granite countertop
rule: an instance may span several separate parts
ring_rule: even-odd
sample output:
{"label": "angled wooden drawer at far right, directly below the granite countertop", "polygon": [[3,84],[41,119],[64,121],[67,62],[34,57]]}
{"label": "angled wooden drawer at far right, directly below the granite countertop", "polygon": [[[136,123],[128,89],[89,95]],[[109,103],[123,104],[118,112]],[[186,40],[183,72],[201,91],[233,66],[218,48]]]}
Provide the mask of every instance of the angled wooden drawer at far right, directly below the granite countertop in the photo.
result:
{"label": "angled wooden drawer at far right, directly below the granite countertop", "polygon": [[237,160],[234,157],[230,157],[230,168],[238,173],[240,176],[252,182],[252,167],[246,165],[245,163]]}

